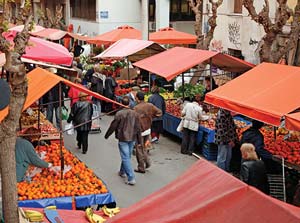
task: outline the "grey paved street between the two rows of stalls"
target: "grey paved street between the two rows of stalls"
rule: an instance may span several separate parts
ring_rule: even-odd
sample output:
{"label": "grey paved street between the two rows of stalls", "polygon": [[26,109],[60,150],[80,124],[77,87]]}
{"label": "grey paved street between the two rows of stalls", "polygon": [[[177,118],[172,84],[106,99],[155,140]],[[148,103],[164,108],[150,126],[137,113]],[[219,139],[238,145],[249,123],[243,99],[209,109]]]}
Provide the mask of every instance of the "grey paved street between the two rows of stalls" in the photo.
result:
{"label": "grey paved street between the two rows of stalls", "polygon": [[[170,136],[162,137],[159,144],[155,144],[155,149],[150,152],[152,166],[149,171],[146,174],[135,173],[137,184],[135,186],[126,185],[117,174],[120,166],[117,140],[114,135],[108,140],[104,139],[104,134],[112,119],[112,116],[102,117],[102,133],[89,135],[89,150],[85,155],[76,149],[75,135],[65,135],[64,142],[66,148],[70,149],[104,180],[120,207],[128,207],[165,186],[197,160],[193,156],[185,156],[180,153],[178,140],[176,142],[176,139],[172,139]],[[132,160],[136,167],[135,157]]]}

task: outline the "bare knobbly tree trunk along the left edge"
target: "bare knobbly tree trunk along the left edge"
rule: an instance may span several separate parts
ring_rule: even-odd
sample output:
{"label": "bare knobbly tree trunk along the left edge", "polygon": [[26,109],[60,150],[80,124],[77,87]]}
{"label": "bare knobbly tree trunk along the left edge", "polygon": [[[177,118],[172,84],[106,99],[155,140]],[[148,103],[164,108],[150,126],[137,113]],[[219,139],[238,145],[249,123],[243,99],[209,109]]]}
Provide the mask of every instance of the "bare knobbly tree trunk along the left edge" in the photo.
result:
{"label": "bare knobbly tree trunk along the left edge", "polygon": [[14,39],[14,49],[2,37],[0,29],[0,51],[5,53],[5,69],[10,73],[11,97],[8,116],[0,123],[0,163],[2,178],[3,213],[6,223],[19,222],[18,195],[15,160],[16,129],[18,127],[22,108],[27,95],[27,80],[25,65],[21,56],[29,39],[29,29],[32,27],[32,17],[28,18],[24,30]]}

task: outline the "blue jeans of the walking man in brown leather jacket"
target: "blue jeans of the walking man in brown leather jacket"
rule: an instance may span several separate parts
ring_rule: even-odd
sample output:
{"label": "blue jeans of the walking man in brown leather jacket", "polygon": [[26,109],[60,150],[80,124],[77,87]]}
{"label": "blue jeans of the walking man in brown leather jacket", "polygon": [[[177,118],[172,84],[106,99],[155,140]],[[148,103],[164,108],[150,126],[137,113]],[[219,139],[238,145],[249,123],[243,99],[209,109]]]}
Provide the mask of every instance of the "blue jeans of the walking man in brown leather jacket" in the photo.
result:
{"label": "blue jeans of the walking man in brown leather jacket", "polygon": [[119,151],[121,155],[121,167],[120,167],[120,173],[126,174],[128,181],[134,180],[134,173],[131,165],[131,154],[134,146],[134,142],[119,142]]}

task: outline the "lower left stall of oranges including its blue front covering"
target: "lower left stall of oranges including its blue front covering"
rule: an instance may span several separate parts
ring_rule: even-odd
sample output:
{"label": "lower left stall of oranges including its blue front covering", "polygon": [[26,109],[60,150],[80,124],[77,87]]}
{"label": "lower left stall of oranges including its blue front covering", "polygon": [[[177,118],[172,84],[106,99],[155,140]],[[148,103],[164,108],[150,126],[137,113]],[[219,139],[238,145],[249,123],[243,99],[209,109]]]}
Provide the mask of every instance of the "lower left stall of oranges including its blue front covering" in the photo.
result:
{"label": "lower left stall of oranges including its blue front covering", "polygon": [[36,151],[44,154],[44,160],[52,168],[37,171],[30,168],[28,175],[36,171],[30,181],[18,183],[20,207],[55,205],[61,209],[74,209],[96,204],[114,202],[106,185],[83,162],[63,147],[65,171],[60,178],[60,148],[58,144],[37,146]]}

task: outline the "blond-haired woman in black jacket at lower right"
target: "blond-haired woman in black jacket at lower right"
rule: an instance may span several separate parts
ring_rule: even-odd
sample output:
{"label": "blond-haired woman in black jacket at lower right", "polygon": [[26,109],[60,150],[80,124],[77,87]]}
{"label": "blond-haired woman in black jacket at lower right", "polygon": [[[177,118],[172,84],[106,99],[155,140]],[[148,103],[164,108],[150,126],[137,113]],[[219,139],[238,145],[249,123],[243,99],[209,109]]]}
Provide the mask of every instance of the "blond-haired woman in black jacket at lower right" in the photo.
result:
{"label": "blond-haired woman in black jacket at lower right", "polygon": [[245,183],[269,194],[267,171],[262,160],[258,159],[253,144],[244,143],[241,146],[242,166],[240,177]]}

